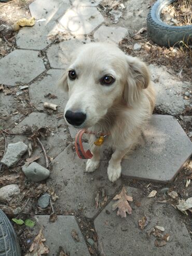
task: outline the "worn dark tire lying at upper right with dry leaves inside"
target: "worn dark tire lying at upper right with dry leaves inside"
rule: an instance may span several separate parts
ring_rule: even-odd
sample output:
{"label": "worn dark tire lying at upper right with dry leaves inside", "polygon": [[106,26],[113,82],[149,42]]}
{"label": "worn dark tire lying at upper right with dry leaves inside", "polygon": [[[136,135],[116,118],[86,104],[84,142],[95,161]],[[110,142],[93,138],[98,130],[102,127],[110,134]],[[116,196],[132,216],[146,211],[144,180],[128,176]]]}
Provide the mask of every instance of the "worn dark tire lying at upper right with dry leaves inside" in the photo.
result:
{"label": "worn dark tire lying at upper right with dry leaves inside", "polygon": [[150,9],[147,16],[147,30],[150,38],[160,46],[173,46],[182,44],[192,44],[192,25],[171,26],[163,22],[160,18],[164,7],[175,2],[175,0],[158,0]]}

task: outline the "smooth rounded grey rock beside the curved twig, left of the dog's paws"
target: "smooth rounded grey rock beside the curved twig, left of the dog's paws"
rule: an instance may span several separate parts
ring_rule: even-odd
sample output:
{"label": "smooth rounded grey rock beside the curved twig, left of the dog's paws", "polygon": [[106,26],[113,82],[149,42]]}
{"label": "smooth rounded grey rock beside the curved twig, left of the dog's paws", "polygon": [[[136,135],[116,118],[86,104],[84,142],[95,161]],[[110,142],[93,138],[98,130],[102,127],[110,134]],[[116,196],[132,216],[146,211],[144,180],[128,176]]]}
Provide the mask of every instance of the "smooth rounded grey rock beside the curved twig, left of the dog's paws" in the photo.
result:
{"label": "smooth rounded grey rock beside the curved twig, left of the dog's paws", "polygon": [[22,171],[29,180],[34,182],[47,179],[50,175],[48,169],[41,166],[40,164],[37,164],[36,162],[31,163],[29,166],[23,165]]}

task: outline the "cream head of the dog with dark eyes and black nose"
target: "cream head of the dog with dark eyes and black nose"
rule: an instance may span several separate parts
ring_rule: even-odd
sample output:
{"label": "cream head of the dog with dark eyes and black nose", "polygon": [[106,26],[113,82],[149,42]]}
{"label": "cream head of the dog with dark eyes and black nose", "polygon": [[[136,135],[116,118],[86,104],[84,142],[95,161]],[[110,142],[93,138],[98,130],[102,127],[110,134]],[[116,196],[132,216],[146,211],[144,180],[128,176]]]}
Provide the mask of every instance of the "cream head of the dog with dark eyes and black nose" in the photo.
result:
{"label": "cream head of the dog with dark eyes and black nose", "polygon": [[141,60],[115,45],[84,45],[74,52],[72,64],[59,81],[69,94],[65,119],[78,128],[92,127],[114,105],[133,107],[148,83],[148,69]]}

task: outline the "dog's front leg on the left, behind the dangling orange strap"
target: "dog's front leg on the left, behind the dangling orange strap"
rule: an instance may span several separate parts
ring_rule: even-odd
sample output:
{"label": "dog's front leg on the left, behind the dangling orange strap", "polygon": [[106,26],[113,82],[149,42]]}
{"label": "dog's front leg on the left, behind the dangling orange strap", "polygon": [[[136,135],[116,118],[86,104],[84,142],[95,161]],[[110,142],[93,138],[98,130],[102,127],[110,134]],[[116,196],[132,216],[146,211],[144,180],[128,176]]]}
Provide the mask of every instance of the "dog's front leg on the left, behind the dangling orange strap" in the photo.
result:
{"label": "dog's front leg on the left, behind the dangling orange strap", "polygon": [[92,173],[99,167],[100,164],[100,148],[94,145],[95,137],[90,136],[89,144],[91,147],[92,158],[87,160],[86,172]]}

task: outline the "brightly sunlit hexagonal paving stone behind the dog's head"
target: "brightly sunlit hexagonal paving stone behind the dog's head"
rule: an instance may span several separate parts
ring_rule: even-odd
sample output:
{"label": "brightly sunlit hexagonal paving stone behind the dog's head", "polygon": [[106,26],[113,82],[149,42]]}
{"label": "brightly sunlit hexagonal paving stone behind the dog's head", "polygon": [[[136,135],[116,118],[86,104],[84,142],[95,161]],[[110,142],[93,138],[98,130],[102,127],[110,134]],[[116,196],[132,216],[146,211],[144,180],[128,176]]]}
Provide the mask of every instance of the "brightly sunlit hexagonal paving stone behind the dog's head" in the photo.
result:
{"label": "brightly sunlit hexagonal paving stone behind the dog's head", "polygon": [[59,20],[60,24],[72,34],[89,34],[104,21],[95,7],[73,7]]}

